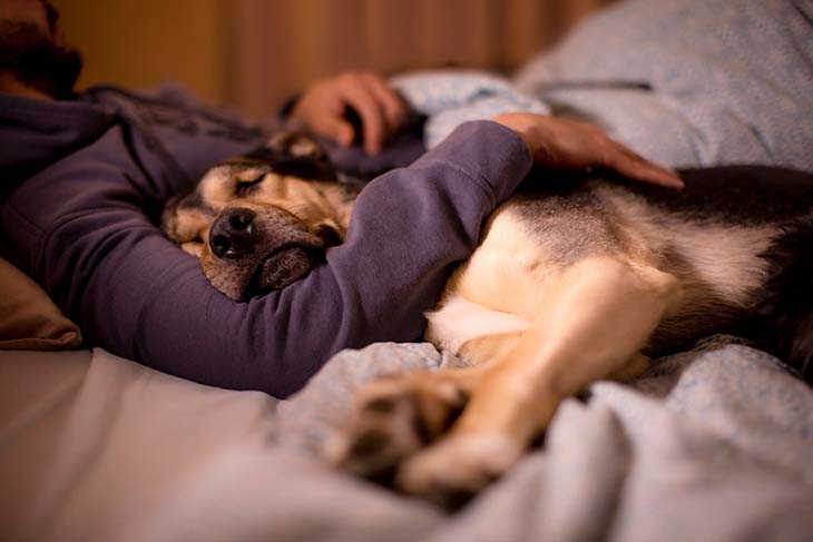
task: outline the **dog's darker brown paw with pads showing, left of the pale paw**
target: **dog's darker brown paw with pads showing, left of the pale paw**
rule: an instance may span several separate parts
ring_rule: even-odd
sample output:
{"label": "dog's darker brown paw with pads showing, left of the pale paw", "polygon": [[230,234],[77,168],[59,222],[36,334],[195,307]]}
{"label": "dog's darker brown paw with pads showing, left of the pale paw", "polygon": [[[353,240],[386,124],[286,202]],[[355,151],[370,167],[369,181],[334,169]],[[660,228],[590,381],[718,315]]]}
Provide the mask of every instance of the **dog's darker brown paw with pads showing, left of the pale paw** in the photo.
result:
{"label": "dog's darker brown paw with pads showing, left of the pale paw", "polygon": [[327,443],[329,461],[389,481],[399,464],[449,428],[468,400],[459,372],[411,373],[365,386],[344,431]]}

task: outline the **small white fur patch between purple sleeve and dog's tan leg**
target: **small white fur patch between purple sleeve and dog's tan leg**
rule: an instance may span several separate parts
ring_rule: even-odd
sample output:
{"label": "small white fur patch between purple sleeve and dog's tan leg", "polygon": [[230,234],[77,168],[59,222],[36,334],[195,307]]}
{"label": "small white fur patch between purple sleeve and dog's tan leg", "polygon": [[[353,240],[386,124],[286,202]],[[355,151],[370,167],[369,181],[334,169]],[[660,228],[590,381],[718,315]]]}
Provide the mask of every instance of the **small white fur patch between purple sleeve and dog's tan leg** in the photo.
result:
{"label": "small white fur patch between purple sleeve and dog's tan leg", "polygon": [[427,338],[454,354],[474,338],[521,333],[530,325],[513,314],[492,311],[459,296],[450,297],[440,309],[427,313]]}

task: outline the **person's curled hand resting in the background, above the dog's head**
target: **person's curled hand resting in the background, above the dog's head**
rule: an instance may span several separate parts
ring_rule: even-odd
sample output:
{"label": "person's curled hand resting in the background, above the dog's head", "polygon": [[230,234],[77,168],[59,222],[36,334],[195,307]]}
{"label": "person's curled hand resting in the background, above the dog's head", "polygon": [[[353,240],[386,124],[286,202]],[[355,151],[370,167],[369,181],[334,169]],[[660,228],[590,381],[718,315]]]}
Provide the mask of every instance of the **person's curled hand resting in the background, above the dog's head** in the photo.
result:
{"label": "person's curled hand resting in the background, above the dog's head", "polygon": [[349,147],[355,131],[346,108],[361,118],[364,150],[374,155],[406,118],[403,98],[379,75],[349,71],[312,85],[291,110],[288,119],[319,136]]}

